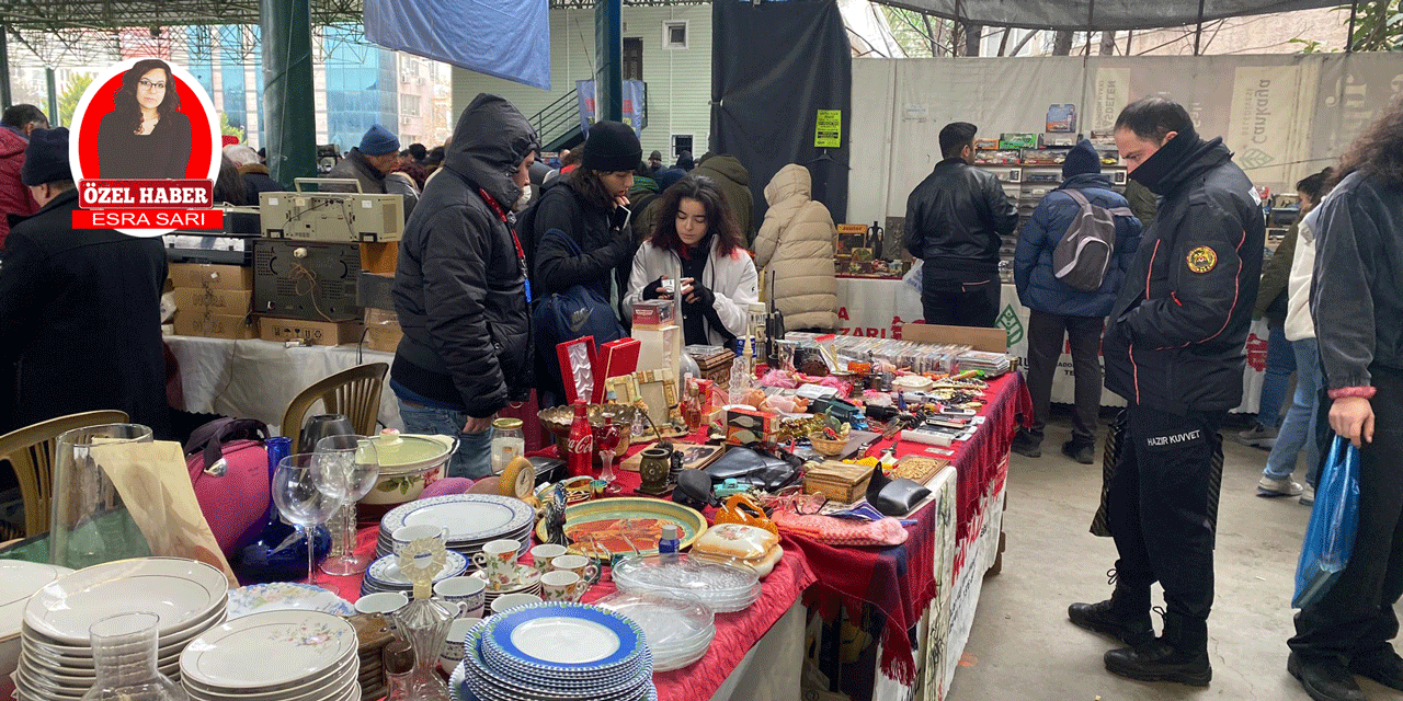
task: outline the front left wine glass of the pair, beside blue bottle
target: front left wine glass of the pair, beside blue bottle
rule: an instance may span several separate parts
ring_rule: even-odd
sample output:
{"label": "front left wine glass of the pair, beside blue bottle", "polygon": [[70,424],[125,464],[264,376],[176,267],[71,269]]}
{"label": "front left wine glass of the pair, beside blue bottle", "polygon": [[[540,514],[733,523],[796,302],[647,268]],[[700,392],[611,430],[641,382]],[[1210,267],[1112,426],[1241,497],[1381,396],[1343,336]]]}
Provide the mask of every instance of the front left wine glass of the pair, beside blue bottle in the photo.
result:
{"label": "front left wine glass of the pair, beside blue bottle", "polygon": [[288,456],[272,472],[272,502],[288,523],[302,527],[307,538],[307,583],[316,585],[317,526],[325,523],[347,494],[347,472],[314,453]]}

